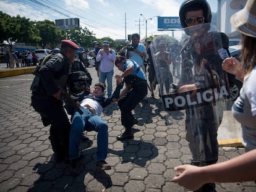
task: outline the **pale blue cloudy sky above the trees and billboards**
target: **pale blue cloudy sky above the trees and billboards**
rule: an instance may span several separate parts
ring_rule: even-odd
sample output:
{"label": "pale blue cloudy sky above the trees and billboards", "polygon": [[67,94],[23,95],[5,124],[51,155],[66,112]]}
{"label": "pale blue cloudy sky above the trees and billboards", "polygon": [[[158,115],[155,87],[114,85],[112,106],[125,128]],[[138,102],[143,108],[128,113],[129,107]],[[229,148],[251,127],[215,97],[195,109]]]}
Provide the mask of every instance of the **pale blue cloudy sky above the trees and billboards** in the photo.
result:
{"label": "pale blue cloudy sky above the trees and billboards", "polygon": [[[96,38],[125,40],[127,35],[169,34],[157,30],[157,16],[178,17],[184,0],[0,0],[0,10],[8,15],[43,21],[79,18],[80,27],[87,27]],[[218,1],[208,1],[217,11]],[[142,14],[142,15],[140,15]],[[151,19],[150,19],[151,18]]]}

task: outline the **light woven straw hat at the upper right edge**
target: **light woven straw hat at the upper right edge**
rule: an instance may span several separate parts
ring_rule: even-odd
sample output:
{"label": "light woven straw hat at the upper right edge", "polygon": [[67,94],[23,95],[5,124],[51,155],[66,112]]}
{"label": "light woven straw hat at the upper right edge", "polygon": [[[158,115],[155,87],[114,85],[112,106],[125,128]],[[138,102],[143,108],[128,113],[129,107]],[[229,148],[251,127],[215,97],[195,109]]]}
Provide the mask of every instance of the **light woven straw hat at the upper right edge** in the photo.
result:
{"label": "light woven straw hat at the upper right edge", "polygon": [[244,9],[231,16],[230,22],[237,31],[256,38],[256,0],[248,0]]}

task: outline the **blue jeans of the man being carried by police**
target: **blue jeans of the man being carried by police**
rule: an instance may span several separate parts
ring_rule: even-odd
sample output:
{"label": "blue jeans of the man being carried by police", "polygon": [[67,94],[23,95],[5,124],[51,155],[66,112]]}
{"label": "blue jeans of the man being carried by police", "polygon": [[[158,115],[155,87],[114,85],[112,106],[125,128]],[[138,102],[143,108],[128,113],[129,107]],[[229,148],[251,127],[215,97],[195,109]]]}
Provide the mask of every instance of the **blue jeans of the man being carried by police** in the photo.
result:
{"label": "blue jeans of the man being carried by police", "polygon": [[88,109],[80,107],[83,114],[75,111],[69,134],[69,159],[79,157],[79,145],[82,140],[83,130],[96,131],[97,136],[97,161],[105,160],[108,154],[108,125],[100,116],[93,114]]}

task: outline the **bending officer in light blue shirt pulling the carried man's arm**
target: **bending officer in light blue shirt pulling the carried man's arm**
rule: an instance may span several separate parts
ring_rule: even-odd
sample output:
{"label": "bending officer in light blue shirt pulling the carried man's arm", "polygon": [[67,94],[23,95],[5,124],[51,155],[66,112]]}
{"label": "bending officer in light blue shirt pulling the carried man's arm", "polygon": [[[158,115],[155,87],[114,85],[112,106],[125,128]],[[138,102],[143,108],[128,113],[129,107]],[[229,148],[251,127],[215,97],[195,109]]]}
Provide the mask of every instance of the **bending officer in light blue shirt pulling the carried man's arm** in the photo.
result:
{"label": "bending officer in light blue shirt pulling the carried man's arm", "polygon": [[122,135],[117,136],[117,140],[122,141],[134,138],[132,127],[137,123],[137,119],[132,115],[132,110],[146,96],[148,88],[145,73],[137,62],[121,56],[116,59],[114,64],[123,72],[122,75],[115,76],[117,82],[121,82],[123,79],[126,84],[126,88],[122,90],[117,102],[121,110],[122,125],[126,128]]}

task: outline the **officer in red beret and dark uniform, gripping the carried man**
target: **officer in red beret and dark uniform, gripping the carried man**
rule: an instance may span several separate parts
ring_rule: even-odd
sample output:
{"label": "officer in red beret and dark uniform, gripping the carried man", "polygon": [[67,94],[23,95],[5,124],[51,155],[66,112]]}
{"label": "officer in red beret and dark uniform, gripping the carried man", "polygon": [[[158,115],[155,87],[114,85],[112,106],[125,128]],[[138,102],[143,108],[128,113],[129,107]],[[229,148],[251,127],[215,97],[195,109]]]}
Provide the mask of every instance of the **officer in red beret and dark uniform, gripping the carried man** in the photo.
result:
{"label": "officer in red beret and dark uniform, gripping the carried man", "polygon": [[77,44],[61,41],[61,53],[41,64],[39,83],[32,90],[32,106],[41,115],[45,126],[51,125],[49,140],[57,162],[69,157],[70,123],[64,111],[61,91],[66,90],[70,64],[74,61]]}

